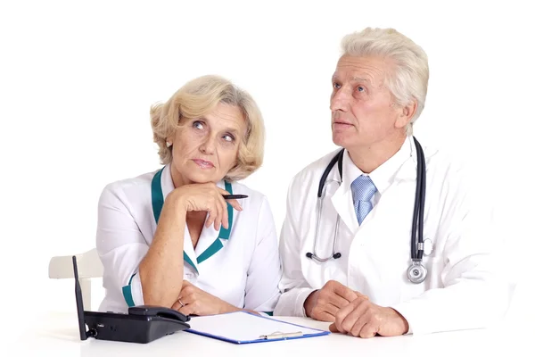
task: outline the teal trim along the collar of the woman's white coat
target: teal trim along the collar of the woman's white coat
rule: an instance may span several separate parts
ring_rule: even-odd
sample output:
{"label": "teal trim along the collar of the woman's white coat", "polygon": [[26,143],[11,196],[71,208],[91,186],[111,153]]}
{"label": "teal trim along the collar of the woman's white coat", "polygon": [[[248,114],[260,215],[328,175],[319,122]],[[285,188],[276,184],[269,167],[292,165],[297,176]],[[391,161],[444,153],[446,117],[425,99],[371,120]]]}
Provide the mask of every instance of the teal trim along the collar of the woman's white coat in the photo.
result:
{"label": "teal trim along the collar of the woman's white coat", "polygon": [[[154,220],[156,220],[156,224],[158,224],[158,220],[160,220],[161,209],[163,208],[163,191],[161,190],[162,171],[163,168],[156,172],[156,174],[152,178],[151,184],[152,213],[154,214]],[[232,195],[232,185],[229,182],[225,181],[225,189],[229,194]],[[218,239],[216,239],[214,243],[212,243],[208,248],[206,248],[206,250],[202,252],[201,255],[199,255],[198,257],[193,257],[195,258],[197,264],[206,261],[215,253],[218,253],[218,251],[223,248],[223,243],[221,243],[221,239],[228,240],[228,238],[230,237],[230,230],[232,229],[232,223],[234,221],[234,208],[229,203],[226,203],[226,212],[228,213],[228,228],[224,228],[223,226],[221,226],[221,228],[219,228]],[[185,252],[184,261],[191,265],[194,270],[199,272],[195,267],[195,264],[193,264],[192,259]]]}

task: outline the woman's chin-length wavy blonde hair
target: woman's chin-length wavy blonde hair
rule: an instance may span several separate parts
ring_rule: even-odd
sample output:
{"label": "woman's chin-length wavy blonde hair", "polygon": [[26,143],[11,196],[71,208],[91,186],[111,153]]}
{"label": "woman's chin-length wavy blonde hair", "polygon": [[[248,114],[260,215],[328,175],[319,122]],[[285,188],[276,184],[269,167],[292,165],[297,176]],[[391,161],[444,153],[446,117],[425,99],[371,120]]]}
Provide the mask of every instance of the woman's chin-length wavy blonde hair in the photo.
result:
{"label": "woman's chin-length wavy blonde hair", "polygon": [[226,173],[229,181],[245,179],[258,170],[264,158],[264,121],[258,105],[251,95],[236,87],[229,80],[207,75],[190,80],[177,90],[165,104],[151,106],[153,140],[158,145],[162,164],[172,160],[168,137],[180,127],[182,118],[199,118],[212,112],[218,104],[235,105],[243,114],[247,131],[238,147],[235,167]]}

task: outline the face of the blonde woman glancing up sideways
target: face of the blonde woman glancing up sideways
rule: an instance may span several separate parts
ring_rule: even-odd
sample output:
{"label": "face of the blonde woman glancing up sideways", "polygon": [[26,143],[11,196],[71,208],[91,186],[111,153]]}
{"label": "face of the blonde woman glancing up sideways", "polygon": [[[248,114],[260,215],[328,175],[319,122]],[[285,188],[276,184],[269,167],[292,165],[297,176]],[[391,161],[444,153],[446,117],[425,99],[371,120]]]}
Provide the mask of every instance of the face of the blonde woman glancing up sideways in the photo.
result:
{"label": "face of the blonde woman glancing up sideways", "polygon": [[171,175],[175,187],[218,182],[237,162],[246,122],[234,105],[218,104],[201,118],[183,118],[168,141],[173,145]]}

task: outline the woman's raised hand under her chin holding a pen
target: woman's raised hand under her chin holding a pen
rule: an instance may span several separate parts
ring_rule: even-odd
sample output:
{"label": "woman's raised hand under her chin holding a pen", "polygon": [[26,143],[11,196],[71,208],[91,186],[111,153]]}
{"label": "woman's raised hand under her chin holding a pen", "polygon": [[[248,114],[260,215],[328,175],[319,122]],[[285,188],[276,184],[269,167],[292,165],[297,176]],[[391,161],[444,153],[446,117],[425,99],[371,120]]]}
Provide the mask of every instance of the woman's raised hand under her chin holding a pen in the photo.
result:
{"label": "woman's raised hand under her chin holding a pen", "polygon": [[219,230],[221,225],[224,228],[228,228],[226,203],[230,203],[237,211],[242,211],[242,206],[236,200],[225,200],[223,198],[223,195],[230,195],[229,192],[219,188],[212,182],[184,185],[175,189],[171,195],[174,195],[185,212],[208,212],[207,228],[212,223],[216,230]]}

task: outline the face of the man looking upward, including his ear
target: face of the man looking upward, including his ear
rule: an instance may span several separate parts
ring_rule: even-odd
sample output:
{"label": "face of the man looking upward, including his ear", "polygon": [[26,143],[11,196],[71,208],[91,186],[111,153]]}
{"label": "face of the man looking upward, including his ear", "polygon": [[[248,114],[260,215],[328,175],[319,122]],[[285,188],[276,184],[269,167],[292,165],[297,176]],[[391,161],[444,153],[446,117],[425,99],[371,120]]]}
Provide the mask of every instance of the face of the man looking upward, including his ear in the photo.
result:
{"label": "face of the man looking upward, including his ear", "polygon": [[409,118],[384,86],[391,68],[382,58],[340,58],[331,95],[334,144],[348,150],[369,148],[405,130]]}

